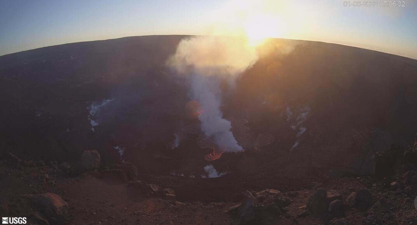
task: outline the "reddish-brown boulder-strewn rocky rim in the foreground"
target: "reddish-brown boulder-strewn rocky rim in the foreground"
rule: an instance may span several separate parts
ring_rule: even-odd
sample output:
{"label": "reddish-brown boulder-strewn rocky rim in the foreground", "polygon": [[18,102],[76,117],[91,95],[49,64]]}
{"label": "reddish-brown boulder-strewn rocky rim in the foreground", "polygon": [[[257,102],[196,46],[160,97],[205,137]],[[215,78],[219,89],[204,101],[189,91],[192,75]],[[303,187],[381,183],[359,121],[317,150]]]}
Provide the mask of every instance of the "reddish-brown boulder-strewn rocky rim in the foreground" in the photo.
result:
{"label": "reddish-brown boulder-strewn rocky rim in the foreground", "polygon": [[[39,225],[416,225],[415,150],[376,153],[374,176],[324,178],[313,188],[287,192],[278,185],[246,190],[227,202],[178,201],[175,189],[131,163],[100,166],[97,151],[84,151],[73,165],[4,153],[0,215]],[[210,194],[220,195],[223,185],[212,186]]]}

